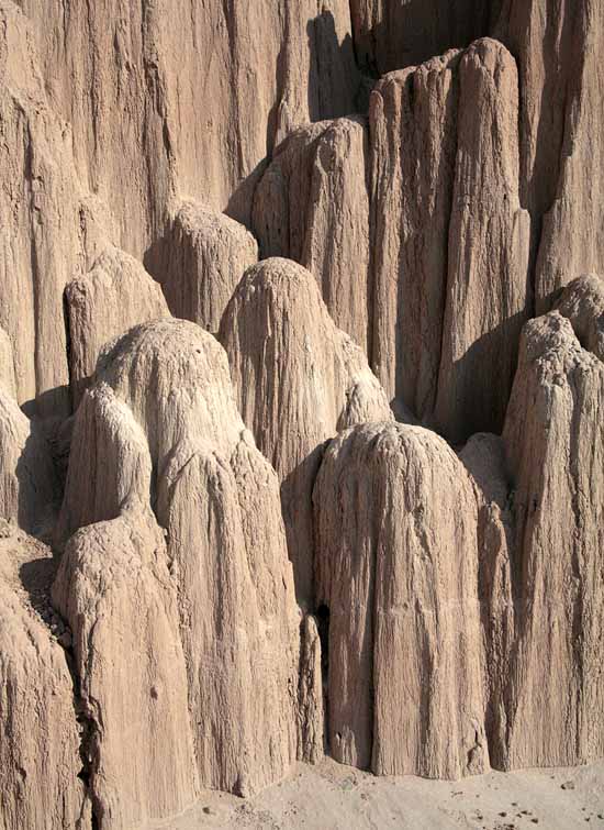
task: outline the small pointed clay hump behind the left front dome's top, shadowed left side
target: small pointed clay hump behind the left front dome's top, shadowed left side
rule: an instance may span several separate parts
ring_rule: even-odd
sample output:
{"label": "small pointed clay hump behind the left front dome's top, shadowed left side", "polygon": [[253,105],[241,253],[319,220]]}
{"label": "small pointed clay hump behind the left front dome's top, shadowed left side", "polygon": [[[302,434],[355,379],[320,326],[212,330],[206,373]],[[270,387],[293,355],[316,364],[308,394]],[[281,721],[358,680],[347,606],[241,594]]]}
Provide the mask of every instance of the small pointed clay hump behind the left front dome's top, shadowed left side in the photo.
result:
{"label": "small pointed clay hump behind the left front dome's top, shadowed left side", "polygon": [[169,317],[161,288],[128,254],[109,247],[65,289],[69,383],[74,409],[90,383],[101,347],[136,323]]}

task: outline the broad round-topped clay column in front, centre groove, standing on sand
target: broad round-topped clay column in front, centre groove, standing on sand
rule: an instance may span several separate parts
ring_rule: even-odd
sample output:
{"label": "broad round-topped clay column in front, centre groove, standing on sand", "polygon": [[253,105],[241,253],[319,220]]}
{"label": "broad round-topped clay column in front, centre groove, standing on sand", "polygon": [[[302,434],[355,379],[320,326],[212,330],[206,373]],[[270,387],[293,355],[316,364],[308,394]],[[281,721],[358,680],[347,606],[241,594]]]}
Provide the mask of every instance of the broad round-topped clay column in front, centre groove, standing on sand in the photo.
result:
{"label": "broad round-topped clay column in front, centre groove, standing on sand", "polygon": [[333,756],[380,775],[489,768],[478,507],[462,464],[420,427],[356,427],[326,450],[314,509]]}

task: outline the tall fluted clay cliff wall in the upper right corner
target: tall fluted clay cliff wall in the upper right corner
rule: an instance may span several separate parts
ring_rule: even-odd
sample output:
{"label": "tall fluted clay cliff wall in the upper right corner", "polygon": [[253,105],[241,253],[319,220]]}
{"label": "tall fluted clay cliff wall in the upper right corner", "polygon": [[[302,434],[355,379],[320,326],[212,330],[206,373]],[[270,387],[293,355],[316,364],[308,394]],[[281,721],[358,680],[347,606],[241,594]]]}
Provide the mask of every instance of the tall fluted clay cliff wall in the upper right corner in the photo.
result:
{"label": "tall fluted clay cliff wall in the upper right corner", "polygon": [[604,269],[604,15],[589,0],[504,0],[494,31],[518,59],[521,195],[547,309],[557,288]]}

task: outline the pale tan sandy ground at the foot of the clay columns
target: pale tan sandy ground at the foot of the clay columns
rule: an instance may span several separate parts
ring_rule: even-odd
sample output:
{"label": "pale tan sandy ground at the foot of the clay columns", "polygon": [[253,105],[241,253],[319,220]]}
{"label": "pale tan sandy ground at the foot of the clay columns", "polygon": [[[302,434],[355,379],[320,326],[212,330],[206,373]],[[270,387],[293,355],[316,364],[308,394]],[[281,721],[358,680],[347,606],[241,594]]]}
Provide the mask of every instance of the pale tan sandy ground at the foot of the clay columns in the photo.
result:
{"label": "pale tan sandy ground at the foot of the clay columns", "polygon": [[[564,785],[564,788],[562,788]],[[547,830],[604,828],[604,762],[585,767],[490,773],[463,782],[376,778],[325,760],[299,764],[281,784],[242,800],[204,793],[165,830]]]}

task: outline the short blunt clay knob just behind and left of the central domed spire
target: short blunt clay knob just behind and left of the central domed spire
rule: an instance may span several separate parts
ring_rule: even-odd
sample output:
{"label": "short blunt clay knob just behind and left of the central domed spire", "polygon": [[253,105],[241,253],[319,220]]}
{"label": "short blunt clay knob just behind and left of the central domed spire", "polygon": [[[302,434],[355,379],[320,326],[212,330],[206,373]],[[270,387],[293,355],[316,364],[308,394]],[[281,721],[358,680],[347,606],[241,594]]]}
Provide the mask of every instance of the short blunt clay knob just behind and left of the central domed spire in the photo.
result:
{"label": "short blunt clay knob just behind and left of the central domed spire", "polygon": [[186,202],[164,242],[158,279],[175,317],[216,332],[226,303],[258,245],[244,225],[200,202]]}

